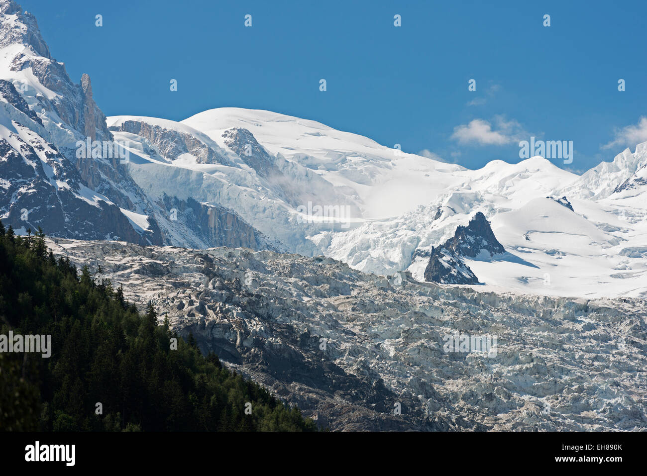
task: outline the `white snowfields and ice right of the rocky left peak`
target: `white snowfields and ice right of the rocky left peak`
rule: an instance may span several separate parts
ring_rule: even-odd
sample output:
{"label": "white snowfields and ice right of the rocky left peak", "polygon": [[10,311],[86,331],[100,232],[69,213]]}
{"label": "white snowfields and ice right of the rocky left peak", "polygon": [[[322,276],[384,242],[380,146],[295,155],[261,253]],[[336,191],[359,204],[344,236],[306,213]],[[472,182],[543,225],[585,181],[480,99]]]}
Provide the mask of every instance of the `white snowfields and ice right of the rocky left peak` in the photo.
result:
{"label": "white snowfields and ice right of the rocky left peak", "polygon": [[[119,116],[108,124],[125,130],[133,120],[160,122]],[[632,177],[642,184],[647,144],[580,177],[541,157],[472,171],[267,111],[223,108],[164,124],[234,154],[236,170],[149,155],[129,166],[146,193],[223,203],[292,252],[328,255],[376,274],[408,269],[423,280],[432,247],[480,211],[510,253],[473,263],[486,286],[562,296],[647,290],[646,204],[640,188],[627,192]],[[127,138],[142,150],[150,145]],[[304,217],[309,204],[347,213]]]}

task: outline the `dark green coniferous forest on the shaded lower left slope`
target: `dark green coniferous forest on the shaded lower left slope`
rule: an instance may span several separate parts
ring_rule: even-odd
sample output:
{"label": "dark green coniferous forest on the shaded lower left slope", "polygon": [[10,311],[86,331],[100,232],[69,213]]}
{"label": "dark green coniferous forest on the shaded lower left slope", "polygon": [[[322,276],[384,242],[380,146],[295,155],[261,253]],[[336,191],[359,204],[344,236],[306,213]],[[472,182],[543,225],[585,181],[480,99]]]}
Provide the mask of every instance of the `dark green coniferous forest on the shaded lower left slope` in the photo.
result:
{"label": "dark green coniferous forest on the shaded lower left slope", "polygon": [[142,316],[121,288],[56,258],[41,230],[20,237],[0,222],[0,334],[10,330],[51,334],[52,354],[0,352],[0,431],[317,429],[158,325],[152,305]]}

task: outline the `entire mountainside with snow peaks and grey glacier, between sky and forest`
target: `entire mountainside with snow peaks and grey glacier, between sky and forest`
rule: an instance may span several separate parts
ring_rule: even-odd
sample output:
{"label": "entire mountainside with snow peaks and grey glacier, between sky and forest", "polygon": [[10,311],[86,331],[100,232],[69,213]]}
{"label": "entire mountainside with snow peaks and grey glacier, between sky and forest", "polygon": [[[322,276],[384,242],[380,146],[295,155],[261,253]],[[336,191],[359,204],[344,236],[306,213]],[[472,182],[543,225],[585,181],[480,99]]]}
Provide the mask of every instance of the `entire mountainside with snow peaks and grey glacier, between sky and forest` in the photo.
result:
{"label": "entire mountainside with snow peaks and grey glacier, between sky and forest", "polygon": [[582,175],[429,156],[269,111],[106,118],[0,0],[5,225],[331,429],[646,429],[647,142]]}

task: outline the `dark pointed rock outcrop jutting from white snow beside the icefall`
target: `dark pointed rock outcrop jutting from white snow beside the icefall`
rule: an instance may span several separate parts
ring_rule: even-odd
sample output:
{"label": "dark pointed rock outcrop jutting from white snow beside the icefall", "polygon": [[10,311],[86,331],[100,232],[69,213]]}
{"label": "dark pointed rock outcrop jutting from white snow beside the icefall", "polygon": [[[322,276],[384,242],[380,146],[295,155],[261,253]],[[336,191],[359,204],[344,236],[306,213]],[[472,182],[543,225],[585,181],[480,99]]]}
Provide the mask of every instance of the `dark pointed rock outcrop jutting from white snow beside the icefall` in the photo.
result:
{"label": "dark pointed rock outcrop jutting from white snow beside the icefall", "polygon": [[483,253],[492,257],[505,253],[505,249],[494,236],[485,215],[479,211],[467,226],[456,228],[454,237],[432,248],[424,280],[454,285],[478,284],[479,279],[462,258],[475,258]]}

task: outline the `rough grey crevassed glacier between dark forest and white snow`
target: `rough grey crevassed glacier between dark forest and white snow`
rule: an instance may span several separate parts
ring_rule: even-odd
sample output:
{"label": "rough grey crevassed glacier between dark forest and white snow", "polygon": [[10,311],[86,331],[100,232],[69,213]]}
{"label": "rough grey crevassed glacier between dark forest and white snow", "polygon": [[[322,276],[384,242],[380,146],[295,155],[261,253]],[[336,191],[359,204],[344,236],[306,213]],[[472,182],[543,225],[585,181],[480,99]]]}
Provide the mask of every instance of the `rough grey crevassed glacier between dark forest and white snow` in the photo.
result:
{"label": "rough grey crevassed glacier between dark forest and white snow", "polygon": [[[333,430],[647,429],[638,299],[482,293],[243,248],[51,246]],[[448,351],[454,334],[497,336],[496,351]]]}

